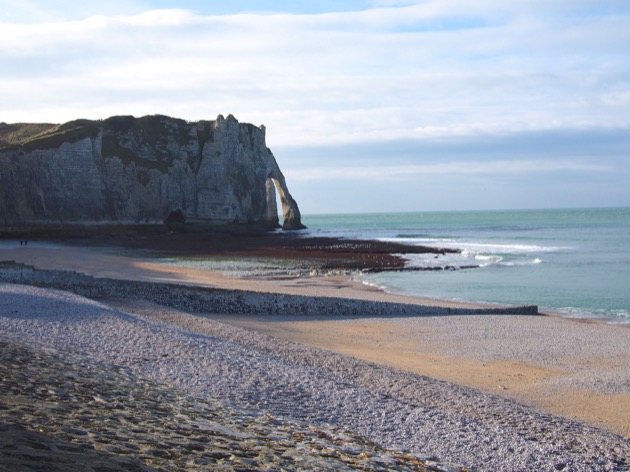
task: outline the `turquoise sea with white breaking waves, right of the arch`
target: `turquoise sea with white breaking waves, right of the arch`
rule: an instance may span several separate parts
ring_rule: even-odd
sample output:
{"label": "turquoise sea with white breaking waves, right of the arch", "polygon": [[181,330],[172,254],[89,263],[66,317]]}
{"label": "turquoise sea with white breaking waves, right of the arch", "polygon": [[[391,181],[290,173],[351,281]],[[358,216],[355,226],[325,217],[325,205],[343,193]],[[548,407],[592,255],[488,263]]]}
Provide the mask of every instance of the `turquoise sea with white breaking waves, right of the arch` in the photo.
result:
{"label": "turquoise sea with white breaking waves, right of the arch", "polygon": [[535,304],[630,324],[630,208],[304,216],[307,233],[457,248],[411,267],[474,269],[362,275],[385,290],[447,300]]}

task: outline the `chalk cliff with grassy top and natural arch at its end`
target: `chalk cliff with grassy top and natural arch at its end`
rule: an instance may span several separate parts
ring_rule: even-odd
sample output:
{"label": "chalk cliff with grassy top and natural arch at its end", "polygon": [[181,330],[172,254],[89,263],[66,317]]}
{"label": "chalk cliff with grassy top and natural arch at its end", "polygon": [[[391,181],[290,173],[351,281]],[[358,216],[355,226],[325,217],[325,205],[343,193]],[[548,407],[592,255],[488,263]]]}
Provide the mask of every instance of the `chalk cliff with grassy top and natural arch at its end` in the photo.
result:
{"label": "chalk cliff with grassy top and natural arch at its end", "polygon": [[0,124],[0,232],[126,225],[279,226],[301,216],[265,144],[233,116]]}

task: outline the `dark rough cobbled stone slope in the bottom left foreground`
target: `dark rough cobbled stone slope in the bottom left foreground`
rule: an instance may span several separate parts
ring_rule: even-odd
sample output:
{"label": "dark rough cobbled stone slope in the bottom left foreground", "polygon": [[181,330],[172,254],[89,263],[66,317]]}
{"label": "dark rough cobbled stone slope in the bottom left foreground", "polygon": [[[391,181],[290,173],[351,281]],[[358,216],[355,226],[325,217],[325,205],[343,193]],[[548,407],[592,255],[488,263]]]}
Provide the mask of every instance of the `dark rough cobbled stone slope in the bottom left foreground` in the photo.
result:
{"label": "dark rough cobbled stone slope in the bottom left foreground", "polygon": [[455,470],[6,341],[0,387],[1,470]]}

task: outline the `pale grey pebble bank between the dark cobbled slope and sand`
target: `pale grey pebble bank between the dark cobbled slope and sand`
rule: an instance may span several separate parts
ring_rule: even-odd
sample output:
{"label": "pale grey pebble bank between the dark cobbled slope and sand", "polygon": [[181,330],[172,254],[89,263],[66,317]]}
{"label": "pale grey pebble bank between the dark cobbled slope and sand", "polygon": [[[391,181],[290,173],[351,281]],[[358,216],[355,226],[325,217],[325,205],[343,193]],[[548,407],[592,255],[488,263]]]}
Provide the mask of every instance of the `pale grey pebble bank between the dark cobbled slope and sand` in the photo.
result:
{"label": "pale grey pebble bank between the dark cobbled slope and sand", "polygon": [[[288,421],[316,431],[334,424],[367,438],[367,444],[375,441],[390,451],[413,450],[417,458],[402,462],[401,470],[422,470],[413,465],[414,461],[427,463],[428,457],[441,461],[436,470],[448,470],[449,463],[482,470],[554,470],[561,463],[570,470],[623,470],[627,465],[630,447],[626,439],[475,389],[233,328],[184,310],[147,303],[137,296],[135,300],[96,303],[63,292],[8,287],[14,296],[23,296],[31,303],[39,300],[40,304],[16,304],[14,298],[10,300],[12,311],[0,304],[5,336],[13,333],[21,342],[55,349],[44,362],[54,356],[68,359],[80,355],[84,360],[70,362],[87,362],[92,372],[99,372],[92,364],[105,366],[99,382],[119,373],[126,375],[125,381],[107,384],[103,391],[90,391],[85,402],[89,408],[118,411],[126,400],[113,398],[111,392],[122,391],[125,384],[141,385],[146,379],[162,385],[158,391],[163,389],[165,395],[182,392],[187,398],[230,402],[241,412],[234,416],[241,418],[245,412],[245,421],[248,411],[257,410],[257,417],[263,413],[266,418],[264,413],[269,413],[284,418],[280,424]],[[166,301],[168,292],[163,296]],[[0,300],[6,302],[7,297]],[[181,298],[173,295],[167,304],[174,307],[178,303]],[[50,336],[51,326],[56,329],[54,336]],[[62,369],[68,370],[68,366]],[[58,371],[51,375],[59,377]],[[65,390],[54,382],[45,383],[40,393],[46,399],[54,400]],[[124,398],[138,396],[136,392]],[[174,404],[177,402],[172,399],[158,399],[151,408],[172,414]],[[83,416],[90,418],[89,412]],[[221,423],[209,413],[203,418],[203,422],[195,422],[198,428],[212,429],[213,422]],[[229,430],[250,434],[232,423],[221,424],[225,425],[218,428],[221,434]],[[76,424],[69,431],[83,438],[82,432],[90,428]],[[238,450],[242,439],[232,439],[230,447]],[[368,470],[379,470],[383,456],[400,454],[384,451],[370,456],[372,452],[356,444],[337,446],[344,460],[375,457],[372,465],[365,467]],[[294,461],[296,454],[301,454],[300,447],[283,452],[281,457]],[[366,455],[357,455],[360,450]],[[152,447],[149,452],[160,460],[176,459],[159,448]],[[221,451],[211,453],[215,459],[219,456]],[[330,459],[328,456],[329,452],[325,453],[324,459]],[[247,460],[255,458],[248,456]]]}

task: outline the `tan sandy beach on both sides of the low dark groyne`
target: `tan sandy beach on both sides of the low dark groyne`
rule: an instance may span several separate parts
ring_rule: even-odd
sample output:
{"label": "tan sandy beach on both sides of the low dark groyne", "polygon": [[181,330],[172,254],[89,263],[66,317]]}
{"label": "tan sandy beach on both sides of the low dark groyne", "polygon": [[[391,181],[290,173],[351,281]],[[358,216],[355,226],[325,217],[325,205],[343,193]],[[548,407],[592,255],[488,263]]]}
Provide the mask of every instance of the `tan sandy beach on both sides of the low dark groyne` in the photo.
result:
{"label": "tan sandy beach on both sides of the low dark groyne", "polygon": [[[231,279],[113,248],[29,244],[0,260],[96,277],[462,305],[387,294],[345,276]],[[630,329],[554,316],[369,318],[212,315],[277,338],[472,386],[630,437]]]}

